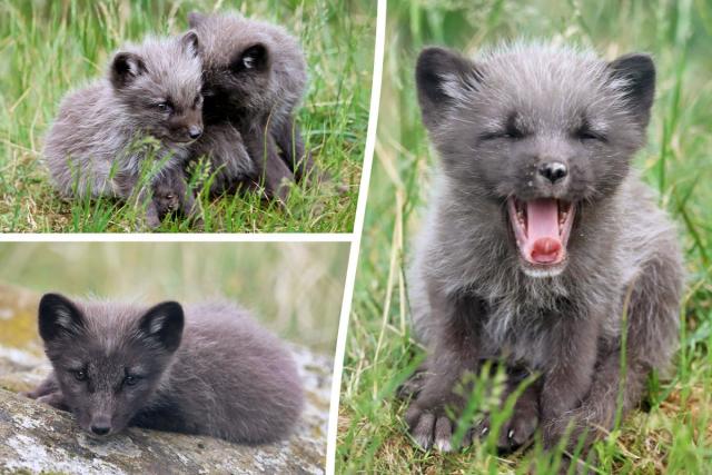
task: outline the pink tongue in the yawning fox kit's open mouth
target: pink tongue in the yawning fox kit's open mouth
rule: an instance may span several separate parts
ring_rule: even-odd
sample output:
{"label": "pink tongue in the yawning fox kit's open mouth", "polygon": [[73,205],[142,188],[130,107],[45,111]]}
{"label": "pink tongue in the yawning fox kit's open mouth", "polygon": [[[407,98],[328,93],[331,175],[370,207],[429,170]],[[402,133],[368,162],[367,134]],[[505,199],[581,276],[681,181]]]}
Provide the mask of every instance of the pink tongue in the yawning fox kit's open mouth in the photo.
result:
{"label": "pink tongue in the yawning fox kit's open mouth", "polygon": [[526,238],[532,260],[540,264],[556,260],[563,246],[558,236],[558,204],[555,199],[526,202]]}

